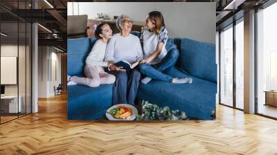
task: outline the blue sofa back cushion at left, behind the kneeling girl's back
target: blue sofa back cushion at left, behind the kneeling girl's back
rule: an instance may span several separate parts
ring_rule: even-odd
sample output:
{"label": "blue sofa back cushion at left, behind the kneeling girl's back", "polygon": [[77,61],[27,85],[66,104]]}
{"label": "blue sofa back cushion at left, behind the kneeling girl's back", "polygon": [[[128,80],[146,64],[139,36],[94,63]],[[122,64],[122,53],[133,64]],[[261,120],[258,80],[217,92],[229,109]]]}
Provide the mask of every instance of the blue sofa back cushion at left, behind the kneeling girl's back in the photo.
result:
{"label": "blue sofa back cushion at left, behind the kneeling girl's back", "polygon": [[84,62],[90,51],[89,38],[67,39],[67,74],[84,76]]}

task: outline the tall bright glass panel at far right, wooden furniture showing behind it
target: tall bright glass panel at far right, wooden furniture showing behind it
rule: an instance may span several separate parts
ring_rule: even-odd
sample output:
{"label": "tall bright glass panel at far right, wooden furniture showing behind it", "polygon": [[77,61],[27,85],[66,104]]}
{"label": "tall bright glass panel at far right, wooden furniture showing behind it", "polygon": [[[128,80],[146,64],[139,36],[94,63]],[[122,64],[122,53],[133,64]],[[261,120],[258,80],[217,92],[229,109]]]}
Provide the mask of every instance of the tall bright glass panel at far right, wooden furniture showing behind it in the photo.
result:
{"label": "tall bright glass panel at far right, wooden furniture showing behind it", "polygon": [[277,118],[277,3],[257,13],[258,113]]}

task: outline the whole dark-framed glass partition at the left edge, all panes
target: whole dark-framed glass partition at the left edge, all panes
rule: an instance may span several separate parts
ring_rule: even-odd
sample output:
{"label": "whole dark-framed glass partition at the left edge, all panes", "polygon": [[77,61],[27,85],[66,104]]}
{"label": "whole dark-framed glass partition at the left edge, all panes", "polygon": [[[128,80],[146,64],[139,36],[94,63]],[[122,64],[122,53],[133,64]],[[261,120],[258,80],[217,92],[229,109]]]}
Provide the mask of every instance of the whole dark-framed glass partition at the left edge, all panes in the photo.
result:
{"label": "whole dark-framed glass partition at the left edge, all panes", "polygon": [[[17,11],[30,8],[30,2],[1,1],[0,5]],[[3,123],[31,113],[32,27],[28,21],[0,8],[0,32],[0,123]]]}

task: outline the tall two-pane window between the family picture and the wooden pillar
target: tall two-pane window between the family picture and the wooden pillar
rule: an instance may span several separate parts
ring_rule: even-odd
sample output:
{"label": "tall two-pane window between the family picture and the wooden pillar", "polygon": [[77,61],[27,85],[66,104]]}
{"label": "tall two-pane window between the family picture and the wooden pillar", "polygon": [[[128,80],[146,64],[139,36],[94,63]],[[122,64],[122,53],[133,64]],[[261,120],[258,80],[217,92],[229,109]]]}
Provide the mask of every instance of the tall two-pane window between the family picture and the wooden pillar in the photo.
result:
{"label": "tall two-pane window between the family picture and the wooden pillar", "polygon": [[220,104],[244,109],[244,18],[234,24],[220,33]]}

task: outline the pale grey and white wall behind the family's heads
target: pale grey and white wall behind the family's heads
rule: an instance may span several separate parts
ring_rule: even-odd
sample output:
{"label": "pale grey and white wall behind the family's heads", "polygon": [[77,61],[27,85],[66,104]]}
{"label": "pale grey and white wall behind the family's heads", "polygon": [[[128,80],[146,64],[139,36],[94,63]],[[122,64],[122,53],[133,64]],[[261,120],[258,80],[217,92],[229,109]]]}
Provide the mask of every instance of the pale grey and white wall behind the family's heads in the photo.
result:
{"label": "pale grey and white wall behind the family's heads", "polygon": [[148,12],[162,12],[170,37],[187,37],[215,44],[215,3],[184,2],[69,2],[67,15],[88,15],[98,12],[109,17],[125,14],[134,21],[145,21]]}

